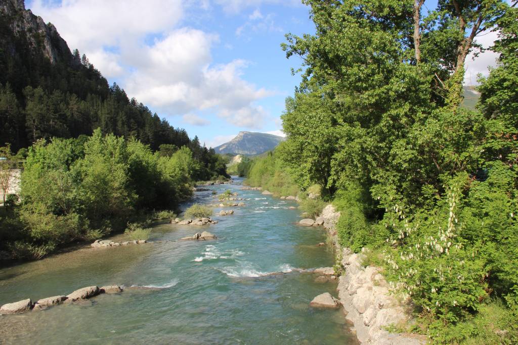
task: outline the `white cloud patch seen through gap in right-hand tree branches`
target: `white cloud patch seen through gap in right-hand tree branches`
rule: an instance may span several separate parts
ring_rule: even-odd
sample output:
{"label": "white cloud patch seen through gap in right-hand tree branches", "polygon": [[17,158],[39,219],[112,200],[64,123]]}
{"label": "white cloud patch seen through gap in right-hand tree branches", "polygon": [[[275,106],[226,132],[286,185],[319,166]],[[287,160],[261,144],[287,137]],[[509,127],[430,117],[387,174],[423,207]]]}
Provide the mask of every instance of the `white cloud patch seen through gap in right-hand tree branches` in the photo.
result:
{"label": "white cloud patch seen through gap in right-hand tree branches", "polygon": [[[498,33],[490,32],[487,34],[483,34],[476,38],[476,41],[484,48],[488,48],[493,46],[495,40],[498,39]],[[496,59],[499,54],[486,50],[483,53],[480,53],[478,57],[473,60],[473,53],[470,53],[466,57],[466,74],[464,75],[464,83],[466,85],[477,85],[477,75],[482,73],[484,76],[489,74],[488,66],[496,66]]]}

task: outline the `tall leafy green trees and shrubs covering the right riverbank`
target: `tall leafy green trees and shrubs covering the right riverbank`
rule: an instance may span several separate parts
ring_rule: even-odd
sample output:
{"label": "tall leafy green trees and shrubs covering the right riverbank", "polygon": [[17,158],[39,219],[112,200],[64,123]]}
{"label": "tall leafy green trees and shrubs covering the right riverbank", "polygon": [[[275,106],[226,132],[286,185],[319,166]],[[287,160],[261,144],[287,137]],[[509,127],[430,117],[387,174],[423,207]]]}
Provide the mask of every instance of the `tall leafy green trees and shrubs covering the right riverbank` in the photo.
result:
{"label": "tall leafy green trees and shrubs covering the right riverbank", "polygon": [[[426,15],[423,1],[304,3],[316,33],[282,45],[304,61],[287,140],[247,183],[300,199],[322,186],[340,244],[370,248],[365,263],[410,297],[416,322],[394,330],[518,342],[516,2],[440,1]],[[465,59],[489,31],[498,65],[468,110]]]}

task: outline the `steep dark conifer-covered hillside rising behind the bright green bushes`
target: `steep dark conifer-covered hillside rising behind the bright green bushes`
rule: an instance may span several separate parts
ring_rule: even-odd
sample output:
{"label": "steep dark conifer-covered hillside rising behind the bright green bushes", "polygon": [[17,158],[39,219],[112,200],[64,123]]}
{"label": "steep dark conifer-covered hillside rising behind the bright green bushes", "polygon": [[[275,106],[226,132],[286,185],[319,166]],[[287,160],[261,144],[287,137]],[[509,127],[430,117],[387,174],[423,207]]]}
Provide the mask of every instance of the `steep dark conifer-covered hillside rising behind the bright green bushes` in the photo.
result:
{"label": "steep dark conifer-covered hillside rising behind the bright green bushes", "polygon": [[[188,134],[128,99],[76,49],[70,52],[52,24],[0,2],[0,143],[17,150],[40,138],[77,138],[95,128],[135,137],[153,150],[190,145]],[[199,143],[198,143],[199,144]]]}

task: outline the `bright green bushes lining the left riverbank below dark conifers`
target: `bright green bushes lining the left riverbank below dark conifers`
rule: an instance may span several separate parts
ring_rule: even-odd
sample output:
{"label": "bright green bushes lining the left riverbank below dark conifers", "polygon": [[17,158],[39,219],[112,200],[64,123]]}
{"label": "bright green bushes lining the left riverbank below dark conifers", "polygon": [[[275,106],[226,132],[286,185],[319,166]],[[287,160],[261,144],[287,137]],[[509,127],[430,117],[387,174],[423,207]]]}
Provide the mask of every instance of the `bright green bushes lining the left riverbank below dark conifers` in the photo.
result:
{"label": "bright green bushes lining the left riverbank below dark conifers", "polygon": [[[4,207],[0,223],[2,249],[16,259],[39,259],[124,229],[147,239],[140,223],[174,218],[167,210],[189,198],[199,172],[208,170],[186,146],[153,152],[100,129],[91,137],[38,140],[23,167],[21,203]],[[221,167],[214,177],[225,174]]]}

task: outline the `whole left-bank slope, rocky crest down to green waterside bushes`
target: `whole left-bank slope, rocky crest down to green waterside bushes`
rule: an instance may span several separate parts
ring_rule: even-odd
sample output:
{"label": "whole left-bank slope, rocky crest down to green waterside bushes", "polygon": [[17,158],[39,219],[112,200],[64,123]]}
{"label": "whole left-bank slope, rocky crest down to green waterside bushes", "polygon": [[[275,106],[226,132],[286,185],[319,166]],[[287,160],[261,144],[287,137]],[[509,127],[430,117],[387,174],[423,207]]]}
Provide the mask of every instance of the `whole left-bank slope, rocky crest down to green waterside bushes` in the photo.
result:
{"label": "whole left-bank slope, rocky crest down to green waterside bushes", "polygon": [[[23,0],[0,0],[0,71],[0,260],[140,229],[172,216],[196,181],[229,177],[212,148],[109,86]],[[6,196],[23,160],[20,195]]]}

